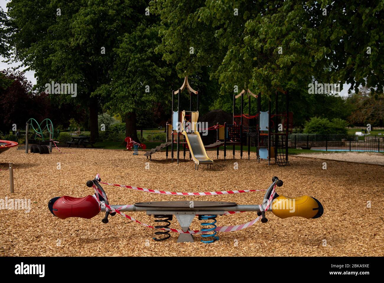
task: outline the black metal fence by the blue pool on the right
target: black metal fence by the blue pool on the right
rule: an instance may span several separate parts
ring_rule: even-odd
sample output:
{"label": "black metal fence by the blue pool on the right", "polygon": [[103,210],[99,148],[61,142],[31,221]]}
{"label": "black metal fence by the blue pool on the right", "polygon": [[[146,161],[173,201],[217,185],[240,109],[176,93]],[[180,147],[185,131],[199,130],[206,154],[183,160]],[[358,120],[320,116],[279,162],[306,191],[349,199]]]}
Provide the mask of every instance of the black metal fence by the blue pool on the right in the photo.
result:
{"label": "black metal fence by the blue pool on the right", "polygon": [[384,152],[384,136],[290,134],[288,147],[318,151]]}

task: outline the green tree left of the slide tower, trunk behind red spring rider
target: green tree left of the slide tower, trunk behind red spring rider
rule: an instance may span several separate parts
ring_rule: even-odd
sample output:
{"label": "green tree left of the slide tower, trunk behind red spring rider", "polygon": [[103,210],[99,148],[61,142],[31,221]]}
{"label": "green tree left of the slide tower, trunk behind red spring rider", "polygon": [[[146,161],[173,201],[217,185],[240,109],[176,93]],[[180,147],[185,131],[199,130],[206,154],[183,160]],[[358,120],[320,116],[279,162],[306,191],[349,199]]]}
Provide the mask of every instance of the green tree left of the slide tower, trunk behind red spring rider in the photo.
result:
{"label": "green tree left of the slide tower, trunk behind red spring rider", "polygon": [[161,60],[161,54],[154,52],[160,43],[159,28],[156,18],[144,15],[145,7],[135,30],[124,33],[114,49],[116,59],[110,72],[111,82],[104,85],[110,97],[106,107],[123,117],[126,136],[137,142],[137,116],[150,121],[155,104],[170,101],[169,82],[176,78],[175,72]]}

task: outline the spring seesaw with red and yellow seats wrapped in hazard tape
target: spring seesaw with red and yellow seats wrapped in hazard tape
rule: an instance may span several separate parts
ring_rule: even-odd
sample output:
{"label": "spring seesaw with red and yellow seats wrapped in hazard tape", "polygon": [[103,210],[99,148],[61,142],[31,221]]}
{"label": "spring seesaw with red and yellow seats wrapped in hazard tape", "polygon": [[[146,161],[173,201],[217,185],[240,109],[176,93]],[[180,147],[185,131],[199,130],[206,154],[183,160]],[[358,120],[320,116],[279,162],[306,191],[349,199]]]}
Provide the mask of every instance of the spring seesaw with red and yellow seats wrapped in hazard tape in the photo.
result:
{"label": "spring seesaw with red and yellow seats wrapped in hazard tape", "polygon": [[[100,182],[101,179],[99,175],[96,175],[93,180],[87,181],[87,186],[94,189],[94,195],[89,195],[84,198],[73,198],[70,196],[56,197],[49,201],[48,208],[53,215],[61,219],[69,217],[90,219],[96,216],[100,211],[105,211],[105,216],[102,219],[102,222],[105,224],[108,223],[109,215],[114,216],[118,213],[123,217],[136,221],[149,228],[159,229],[155,234],[163,235],[164,237],[153,238],[156,241],[170,238],[169,232],[179,233],[180,235],[177,239],[177,242],[179,243],[193,242],[193,234],[201,234],[203,237],[201,241],[203,243],[212,243],[219,239],[217,232],[232,232],[247,228],[256,223],[259,219],[261,219],[262,223],[266,223],[268,219],[265,217],[265,212],[267,211],[272,211],[273,214],[282,219],[291,216],[314,219],[319,218],[324,212],[321,203],[313,197],[301,196],[299,198],[287,198],[283,195],[279,196],[275,189],[276,187],[283,186],[283,181],[277,177],[272,178],[272,184],[266,190],[262,204],[237,204],[220,201],[153,201],[135,203],[133,205],[110,205]],[[154,217],[157,218],[155,220],[156,223],[164,222],[166,224],[153,227],[137,221],[131,216],[122,213],[122,211],[146,211],[147,215],[154,215]],[[220,227],[216,225],[216,218],[218,215],[245,211],[257,212],[258,218],[237,226]],[[181,230],[169,228],[173,216],[176,216]],[[204,228],[200,230],[190,230],[189,226],[195,216],[198,216],[199,220],[210,220],[212,222],[201,223]]]}

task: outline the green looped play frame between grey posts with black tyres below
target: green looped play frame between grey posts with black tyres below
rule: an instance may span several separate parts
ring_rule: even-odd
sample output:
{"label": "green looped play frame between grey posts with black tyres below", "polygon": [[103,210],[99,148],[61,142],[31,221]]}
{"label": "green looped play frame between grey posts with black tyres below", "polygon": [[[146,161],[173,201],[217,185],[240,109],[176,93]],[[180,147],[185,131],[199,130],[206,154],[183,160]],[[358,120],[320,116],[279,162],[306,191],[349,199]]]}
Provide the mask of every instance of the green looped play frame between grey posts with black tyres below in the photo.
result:
{"label": "green looped play frame between grey posts with black tyres below", "polygon": [[[44,125],[45,123],[45,125]],[[34,125],[35,124],[35,125]],[[44,125],[44,127],[42,127]],[[31,145],[30,152],[31,153],[39,153],[39,154],[49,154],[52,152],[52,142],[53,142],[53,123],[50,119],[44,119],[39,124],[35,119],[29,119],[25,124],[25,153],[28,153],[28,144],[29,144],[29,126],[35,132],[35,137],[33,141],[36,141],[36,137],[41,138],[41,142],[47,141],[46,136],[44,135],[45,130],[49,133],[49,148],[46,145],[42,145],[41,142],[39,144]],[[36,142],[35,142],[36,143]]]}

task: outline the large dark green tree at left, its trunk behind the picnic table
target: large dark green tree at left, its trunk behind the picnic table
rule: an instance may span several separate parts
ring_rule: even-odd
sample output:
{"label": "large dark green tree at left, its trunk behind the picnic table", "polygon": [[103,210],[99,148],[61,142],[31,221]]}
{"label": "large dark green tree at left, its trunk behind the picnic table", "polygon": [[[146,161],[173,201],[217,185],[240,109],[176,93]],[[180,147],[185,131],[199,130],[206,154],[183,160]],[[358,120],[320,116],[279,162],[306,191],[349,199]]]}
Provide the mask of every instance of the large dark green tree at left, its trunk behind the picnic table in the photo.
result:
{"label": "large dark green tree at left, its trunk behind the picnic table", "polygon": [[[57,104],[88,108],[91,139],[98,137],[98,112],[105,98],[124,32],[136,27],[144,1],[18,0],[8,3],[10,44],[17,59],[35,70],[37,88],[51,81],[77,84],[77,96],[54,94]],[[33,17],[31,17],[33,15]],[[105,51],[105,52],[104,52]],[[107,97],[108,98],[108,97]],[[108,100],[107,100],[108,101]]]}

